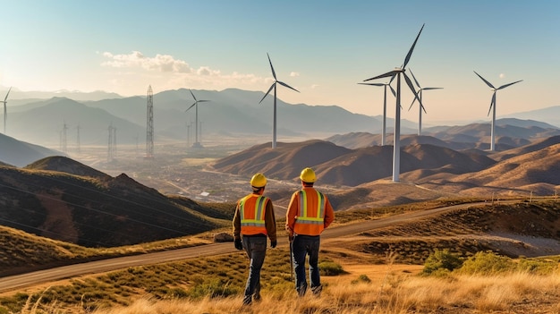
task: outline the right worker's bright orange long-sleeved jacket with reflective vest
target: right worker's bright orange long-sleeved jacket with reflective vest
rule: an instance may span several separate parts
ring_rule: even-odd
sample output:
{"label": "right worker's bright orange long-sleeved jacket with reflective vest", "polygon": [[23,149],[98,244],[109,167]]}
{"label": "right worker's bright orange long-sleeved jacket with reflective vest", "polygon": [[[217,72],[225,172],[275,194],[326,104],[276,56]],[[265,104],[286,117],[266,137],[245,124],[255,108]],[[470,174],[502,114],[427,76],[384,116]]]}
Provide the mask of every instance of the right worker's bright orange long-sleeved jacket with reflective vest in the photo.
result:
{"label": "right worker's bright orange long-sleeved jacket with reflective vest", "polygon": [[319,235],[335,219],[335,211],[327,196],[312,187],[304,187],[292,195],[286,212],[286,228],[302,235]]}

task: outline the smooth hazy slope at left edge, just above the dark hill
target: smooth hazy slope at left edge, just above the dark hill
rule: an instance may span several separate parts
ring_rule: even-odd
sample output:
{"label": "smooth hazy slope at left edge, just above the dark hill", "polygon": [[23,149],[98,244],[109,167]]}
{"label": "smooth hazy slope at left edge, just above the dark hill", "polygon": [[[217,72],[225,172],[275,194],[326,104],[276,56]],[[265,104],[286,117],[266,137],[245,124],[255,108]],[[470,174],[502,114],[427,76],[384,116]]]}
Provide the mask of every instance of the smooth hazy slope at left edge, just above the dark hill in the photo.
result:
{"label": "smooth hazy slope at left edge, just above the dark hill", "polygon": [[0,162],[4,165],[24,166],[40,158],[63,154],[4,134],[0,134],[0,148]]}

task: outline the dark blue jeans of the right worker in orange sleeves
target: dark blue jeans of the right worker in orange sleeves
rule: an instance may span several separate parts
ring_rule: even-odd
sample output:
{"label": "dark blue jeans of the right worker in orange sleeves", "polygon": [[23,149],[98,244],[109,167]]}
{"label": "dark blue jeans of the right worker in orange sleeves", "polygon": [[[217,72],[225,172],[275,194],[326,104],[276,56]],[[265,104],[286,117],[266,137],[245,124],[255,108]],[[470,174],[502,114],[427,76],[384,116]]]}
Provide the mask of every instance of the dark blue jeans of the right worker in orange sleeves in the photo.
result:
{"label": "dark blue jeans of the right worker in orange sleeves", "polygon": [[293,238],[293,265],[295,267],[295,290],[300,296],[307,291],[305,257],[310,257],[310,282],[313,293],[320,293],[321,279],[318,272],[318,248],[320,237],[298,234]]}

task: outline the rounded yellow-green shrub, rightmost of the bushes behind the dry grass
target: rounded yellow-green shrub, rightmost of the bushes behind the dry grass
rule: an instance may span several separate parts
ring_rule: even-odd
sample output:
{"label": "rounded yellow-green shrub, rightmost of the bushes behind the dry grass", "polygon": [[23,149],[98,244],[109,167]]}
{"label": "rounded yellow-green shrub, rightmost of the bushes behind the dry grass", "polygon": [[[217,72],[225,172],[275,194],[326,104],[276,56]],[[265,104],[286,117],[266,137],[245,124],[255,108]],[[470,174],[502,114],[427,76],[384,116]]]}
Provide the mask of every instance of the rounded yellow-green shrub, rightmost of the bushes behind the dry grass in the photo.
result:
{"label": "rounded yellow-green shrub, rightmost of the bushes behind the dry grass", "polygon": [[469,275],[494,275],[515,270],[516,265],[512,259],[499,256],[494,252],[479,251],[474,256],[465,260],[458,271]]}

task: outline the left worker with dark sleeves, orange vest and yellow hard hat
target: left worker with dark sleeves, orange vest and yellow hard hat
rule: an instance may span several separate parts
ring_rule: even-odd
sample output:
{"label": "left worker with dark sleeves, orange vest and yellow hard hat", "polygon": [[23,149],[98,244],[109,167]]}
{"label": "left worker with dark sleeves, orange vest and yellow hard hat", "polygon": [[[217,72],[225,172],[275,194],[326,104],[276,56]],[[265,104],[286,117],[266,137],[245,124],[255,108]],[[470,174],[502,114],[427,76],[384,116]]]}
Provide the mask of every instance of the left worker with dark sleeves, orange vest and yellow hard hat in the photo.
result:
{"label": "left worker with dark sleeves, orange vest and yellow hard hat", "polygon": [[252,193],[237,202],[233,215],[235,249],[245,250],[250,259],[243,305],[260,300],[260,268],[267,253],[267,236],[270,247],[276,248],[276,218],[272,200],[262,195],[266,185],[264,174],[253,175],[250,179]]}

